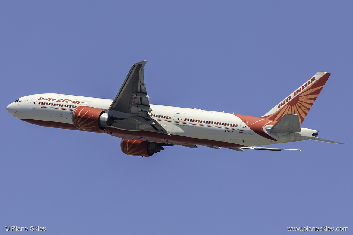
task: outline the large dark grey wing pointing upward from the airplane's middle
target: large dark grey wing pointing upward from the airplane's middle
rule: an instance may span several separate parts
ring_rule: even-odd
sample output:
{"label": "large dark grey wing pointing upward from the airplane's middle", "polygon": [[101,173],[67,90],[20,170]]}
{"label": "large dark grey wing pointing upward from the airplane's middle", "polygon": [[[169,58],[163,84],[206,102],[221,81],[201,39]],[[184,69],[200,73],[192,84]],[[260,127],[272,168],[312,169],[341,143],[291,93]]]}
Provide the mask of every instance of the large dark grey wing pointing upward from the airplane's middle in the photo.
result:
{"label": "large dark grey wing pointing upward from the airplane's middle", "polygon": [[[146,60],[134,63],[108,110],[112,125],[124,130],[147,130],[168,134],[149,113],[149,96],[143,78]],[[113,121],[113,122],[114,122]]]}

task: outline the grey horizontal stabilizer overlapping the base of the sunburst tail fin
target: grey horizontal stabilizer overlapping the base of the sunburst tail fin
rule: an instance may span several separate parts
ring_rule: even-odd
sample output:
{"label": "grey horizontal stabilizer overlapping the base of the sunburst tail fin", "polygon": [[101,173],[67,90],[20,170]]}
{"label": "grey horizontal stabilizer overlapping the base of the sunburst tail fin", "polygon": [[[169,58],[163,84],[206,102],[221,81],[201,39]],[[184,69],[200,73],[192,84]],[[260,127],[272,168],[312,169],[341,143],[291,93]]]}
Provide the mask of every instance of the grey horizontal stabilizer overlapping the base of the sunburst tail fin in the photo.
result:
{"label": "grey horizontal stabilizer overlapping the base of the sunburst tail fin", "polygon": [[[267,129],[267,128],[266,128]],[[269,129],[275,133],[293,133],[300,132],[299,116],[296,114],[287,113]]]}

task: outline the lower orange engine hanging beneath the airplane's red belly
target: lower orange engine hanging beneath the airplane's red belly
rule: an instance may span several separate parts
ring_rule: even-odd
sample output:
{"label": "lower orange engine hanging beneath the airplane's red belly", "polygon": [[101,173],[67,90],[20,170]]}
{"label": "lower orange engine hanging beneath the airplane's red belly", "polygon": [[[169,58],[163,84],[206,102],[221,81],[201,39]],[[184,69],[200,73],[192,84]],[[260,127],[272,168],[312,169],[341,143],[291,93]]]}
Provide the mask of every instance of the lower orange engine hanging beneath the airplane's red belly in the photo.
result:
{"label": "lower orange engine hanging beneath the airplane's red belly", "polygon": [[121,151],[127,155],[149,157],[163,149],[161,144],[155,142],[121,139]]}

